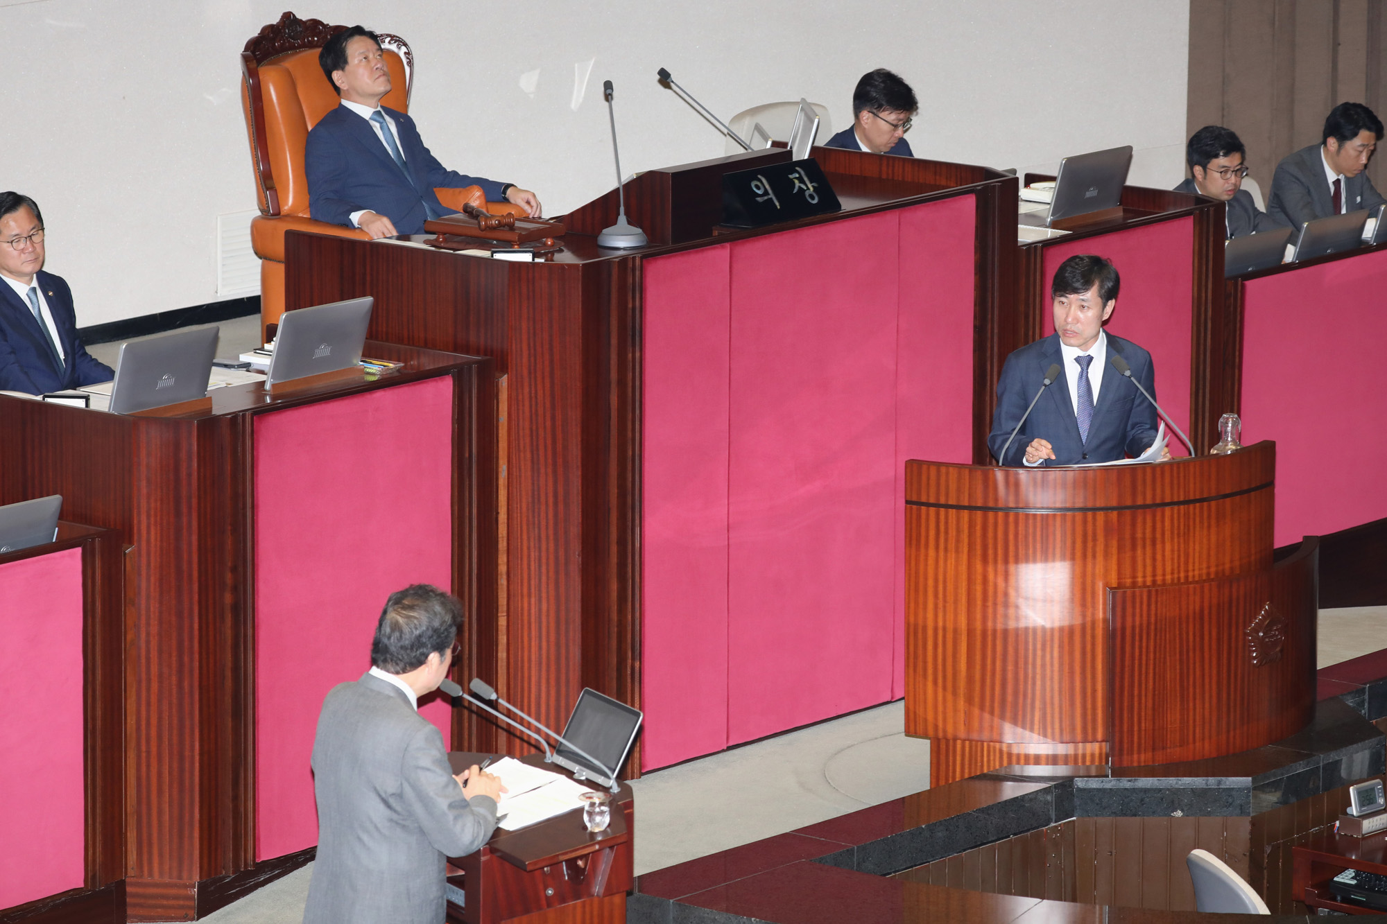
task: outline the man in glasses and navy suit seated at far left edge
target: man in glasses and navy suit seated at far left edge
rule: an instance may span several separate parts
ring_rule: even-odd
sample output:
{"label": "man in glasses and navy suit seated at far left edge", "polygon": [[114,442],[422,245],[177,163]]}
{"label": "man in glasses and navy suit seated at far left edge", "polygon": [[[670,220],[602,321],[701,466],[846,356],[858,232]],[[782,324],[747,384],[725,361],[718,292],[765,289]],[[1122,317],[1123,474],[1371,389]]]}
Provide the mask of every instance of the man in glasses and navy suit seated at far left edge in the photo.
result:
{"label": "man in glasses and navy suit seated at far left edge", "polygon": [[19,193],[0,193],[0,390],[46,394],[110,382],[78,339],[72,290],[43,272],[43,214]]}

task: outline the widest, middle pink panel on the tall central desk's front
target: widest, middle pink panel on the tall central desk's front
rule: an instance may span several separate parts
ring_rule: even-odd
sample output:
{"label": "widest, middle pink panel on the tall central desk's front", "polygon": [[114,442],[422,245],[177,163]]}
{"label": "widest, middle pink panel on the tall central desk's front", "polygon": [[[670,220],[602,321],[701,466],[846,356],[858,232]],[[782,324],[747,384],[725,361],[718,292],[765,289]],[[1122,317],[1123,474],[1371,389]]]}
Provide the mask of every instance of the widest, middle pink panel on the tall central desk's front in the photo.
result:
{"label": "widest, middle pink panel on the tall central desk's front", "polygon": [[728,744],[890,698],[899,221],[732,244]]}

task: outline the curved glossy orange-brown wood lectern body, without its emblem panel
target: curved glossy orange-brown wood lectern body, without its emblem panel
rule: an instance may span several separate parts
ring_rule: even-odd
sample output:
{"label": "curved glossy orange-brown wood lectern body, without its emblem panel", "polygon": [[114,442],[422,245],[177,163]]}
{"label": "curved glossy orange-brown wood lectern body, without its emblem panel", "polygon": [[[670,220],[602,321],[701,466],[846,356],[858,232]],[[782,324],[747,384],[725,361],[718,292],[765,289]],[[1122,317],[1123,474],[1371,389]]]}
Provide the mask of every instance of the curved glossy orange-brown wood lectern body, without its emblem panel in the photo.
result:
{"label": "curved glossy orange-brown wood lectern body, without its emblem panel", "polygon": [[[1107,588],[1269,569],[1273,472],[1269,443],[1099,469],[908,462],[907,734],[1092,753],[1110,739]],[[935,785],[1000,766],[964,751],[982,763],[951,755]]]}

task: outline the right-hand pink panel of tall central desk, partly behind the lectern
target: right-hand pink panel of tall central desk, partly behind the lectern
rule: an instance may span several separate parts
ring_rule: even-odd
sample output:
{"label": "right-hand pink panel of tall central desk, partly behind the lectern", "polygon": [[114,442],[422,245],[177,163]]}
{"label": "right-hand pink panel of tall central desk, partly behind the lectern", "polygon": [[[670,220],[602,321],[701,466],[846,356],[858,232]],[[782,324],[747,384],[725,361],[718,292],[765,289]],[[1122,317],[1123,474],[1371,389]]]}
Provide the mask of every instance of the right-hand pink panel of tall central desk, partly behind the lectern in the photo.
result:
{"label": "right-hand pink panel of tall central desk, partly behind the lectern", "polygon": [[972,196],[900,215],[890,698],[906,695],[906,461],[972,461]]}

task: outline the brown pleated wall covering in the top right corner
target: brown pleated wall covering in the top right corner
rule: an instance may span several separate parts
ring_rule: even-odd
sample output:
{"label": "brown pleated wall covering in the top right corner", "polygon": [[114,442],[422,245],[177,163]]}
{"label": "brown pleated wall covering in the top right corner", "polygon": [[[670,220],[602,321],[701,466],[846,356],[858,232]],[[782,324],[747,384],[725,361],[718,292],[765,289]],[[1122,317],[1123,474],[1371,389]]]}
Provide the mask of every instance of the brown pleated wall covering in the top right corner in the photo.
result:
{"label": "brown pleated wall covering in the top right corner", "polygon": [[[1225,125],[1270,194],[1287,154],[1320,140],[1340,103],[1387,111],[1387,1],[1190,0],[1187,133]],[[1368,168],[1379,189],[1387,165]]]}

